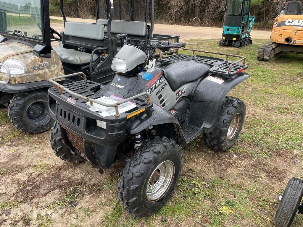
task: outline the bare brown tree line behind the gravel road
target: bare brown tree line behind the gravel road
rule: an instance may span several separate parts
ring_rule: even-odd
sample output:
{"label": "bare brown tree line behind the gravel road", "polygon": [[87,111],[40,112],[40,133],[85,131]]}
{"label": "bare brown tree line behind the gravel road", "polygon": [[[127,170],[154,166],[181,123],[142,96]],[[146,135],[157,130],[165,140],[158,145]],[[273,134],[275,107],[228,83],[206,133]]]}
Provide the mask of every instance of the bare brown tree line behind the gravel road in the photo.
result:
{"label": "bare brown tree line behind the gravel road", "polygon": [[[68,17],[95,18],[95,0],[63,0]],[[103,1],[103,0],[101,0]],[[128,1],[128,0],[126,0]],[[303,3],[303,0],[301,0]],[[51,15],[60,15],[59,0],[50,0]],[[272,27],[280,0],[251,0],[255,27]],[[155,22],[163,24],[219,26],[224,19],[224,0],[155,0]]]}

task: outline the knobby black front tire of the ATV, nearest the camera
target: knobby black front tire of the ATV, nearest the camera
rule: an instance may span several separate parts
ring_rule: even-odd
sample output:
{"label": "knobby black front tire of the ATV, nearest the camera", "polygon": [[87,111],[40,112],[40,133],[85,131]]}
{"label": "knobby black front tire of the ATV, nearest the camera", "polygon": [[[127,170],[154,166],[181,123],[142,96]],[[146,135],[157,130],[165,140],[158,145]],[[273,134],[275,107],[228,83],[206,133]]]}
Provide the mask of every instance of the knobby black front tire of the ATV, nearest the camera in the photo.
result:
{"label": "knobby black front tire of the ATV, nearest the camera", "polygon": [[[178,184],[183,166],[182,156],[183,153],[180,146],[174,140],[166,137],[156,137],[154,140],[146,140],[145,145],[142,145],[127,160],[125,168],[121,171],[121,180],[118,183],[118,199],[122,207],[136,217],[149,216],[157,212],[171,197]],[[153,182],[154,186],[156,186],[156,182],[161,183],[157,178],[151,181],[150,179],[152,176],[157,177],[157,173],[161,175],[161,171],[156,168],[163,162],[170,163],[169,165],[173,163],[175,168],[174,175],[168,177],[167,182],[170,182],[170,184],[168,183],[167,187],[163,187],[163,190],[167,189],[159,193],[158,198],[154,197],[153,201],[153,199],[148,199],[151,197],[148,197],[147,187],[150,186],[150,182]],[[161,183],[161,185],[165,184]],[[161,190],[162,187],[159,186],[158,188]]]}

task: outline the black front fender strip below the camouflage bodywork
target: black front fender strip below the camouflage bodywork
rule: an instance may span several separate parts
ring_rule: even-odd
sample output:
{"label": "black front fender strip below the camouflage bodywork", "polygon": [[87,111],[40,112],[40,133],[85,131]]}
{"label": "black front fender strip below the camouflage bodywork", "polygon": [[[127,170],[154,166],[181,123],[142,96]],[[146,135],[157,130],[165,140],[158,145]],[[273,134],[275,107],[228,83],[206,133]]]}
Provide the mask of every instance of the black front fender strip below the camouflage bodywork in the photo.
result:
{"label": "black front fender strip below the camouflage bodywork", "polygon": [[49,81],[34,81],[22,84],[0,84],[0,91],[5,93],[20,93],[41,88],[50,88],[52,86],[52,83]]}

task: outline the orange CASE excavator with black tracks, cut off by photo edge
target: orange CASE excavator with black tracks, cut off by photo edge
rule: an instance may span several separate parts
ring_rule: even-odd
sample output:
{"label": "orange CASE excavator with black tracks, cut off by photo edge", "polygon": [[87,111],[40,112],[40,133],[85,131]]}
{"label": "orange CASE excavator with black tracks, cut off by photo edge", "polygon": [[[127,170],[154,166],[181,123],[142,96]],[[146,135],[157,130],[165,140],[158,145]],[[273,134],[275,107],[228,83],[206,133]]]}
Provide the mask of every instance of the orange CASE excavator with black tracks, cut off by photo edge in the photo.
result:
{"label": "orange CASE excavator with black tracks, cut off by photo edge", "polygon": [[300,1],[281,0],[271,42],[258,51],[259,61],[272,61],[290,52],[303,53],[303,12]]}

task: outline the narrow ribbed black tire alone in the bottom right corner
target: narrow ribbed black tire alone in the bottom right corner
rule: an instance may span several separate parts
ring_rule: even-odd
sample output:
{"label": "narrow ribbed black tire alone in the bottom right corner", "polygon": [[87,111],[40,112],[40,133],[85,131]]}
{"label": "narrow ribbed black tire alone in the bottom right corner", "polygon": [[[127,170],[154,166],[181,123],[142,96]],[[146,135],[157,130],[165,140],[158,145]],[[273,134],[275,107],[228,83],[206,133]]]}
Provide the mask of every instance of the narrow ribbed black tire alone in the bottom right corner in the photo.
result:
{"label": "narrow ribbed black tire alone in the bottom right corner", "polygon": [[288,181],[274,216],[276,227],[289,227],[295,218],[303,196],[303,181],[294,177]]}

